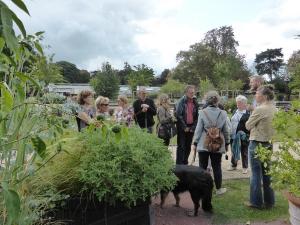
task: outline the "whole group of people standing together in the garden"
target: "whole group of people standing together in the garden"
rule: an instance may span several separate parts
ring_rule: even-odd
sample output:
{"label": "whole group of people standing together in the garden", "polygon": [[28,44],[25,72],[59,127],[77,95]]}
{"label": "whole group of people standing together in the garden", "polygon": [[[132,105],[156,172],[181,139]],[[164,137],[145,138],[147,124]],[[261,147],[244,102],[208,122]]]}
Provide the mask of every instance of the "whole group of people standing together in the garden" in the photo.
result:
{"label": "whole group of people standing together in the garden", "polygon": [[[222,155],[231,146],[231,166],[228,170],[236,170],[240,159],[243,173],[248,173],[248,162],[251,167],[250,201],[246,205],[269,208],[274,206],[274,192],[270,186],[267,168],[256,158],[256,151],[259,146],[272,149],[272,119],[276,112],[273,104],[274,91],[271,86],[263,85],[260,76],[250,78],[250,87],[252,94],[255,94],[252,104],[248,104],[245,96],[237,96],[237,109],[231,118],[228,118],[220,104],[220,96],[216,91],[206,93],[204,107],[200,110],[195,97],[195,87],[188,85],[184,96],[177,101],[174,108],[171,107],[167,94],[159,96],[156,108],[154,101],[147,97],[145,88],[139,89],[138,99],[133,102],[132,107],[128,106],[125,96],[119,96],[114,119],[127,126],[135,121],[149,133],[154,131],[156,115],[157,130],[164,124],[176,123],[176,164],[188,164],[191,151],[198,152],[199,167],[206,170],[211,164],[216,194],[227,191],[222,188]],[[78,97],[78,103],[81,106],[81,111],[78,112],[79,130],[88,126],[98,115],[108,115],[109,99],[106,97],[98,97],[93,105],[93,94],[83,91]],[[216,152],[210,151],[205,142],[208,129],[212,126],[219,129],[223,140]],[[171,137],[163,138],[165,145],[169,145]]]}

